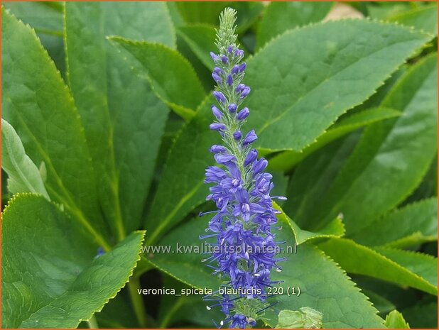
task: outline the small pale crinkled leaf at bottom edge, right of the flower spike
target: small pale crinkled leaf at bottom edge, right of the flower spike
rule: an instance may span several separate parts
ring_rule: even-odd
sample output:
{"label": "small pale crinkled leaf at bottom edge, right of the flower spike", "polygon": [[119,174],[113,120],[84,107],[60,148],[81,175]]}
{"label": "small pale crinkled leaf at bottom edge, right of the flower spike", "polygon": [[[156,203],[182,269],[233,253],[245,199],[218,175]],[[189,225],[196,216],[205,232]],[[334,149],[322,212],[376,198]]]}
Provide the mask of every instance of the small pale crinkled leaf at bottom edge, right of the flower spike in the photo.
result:
{"label": "small pale crinkled leaf at bottom edge, right of the flower spike", "polygon": [[285,309],[279,312],[276,329],[320,329],[323,314],[309,307],[298,311]]}

